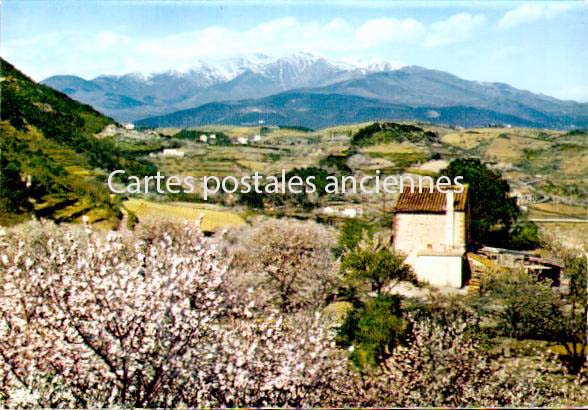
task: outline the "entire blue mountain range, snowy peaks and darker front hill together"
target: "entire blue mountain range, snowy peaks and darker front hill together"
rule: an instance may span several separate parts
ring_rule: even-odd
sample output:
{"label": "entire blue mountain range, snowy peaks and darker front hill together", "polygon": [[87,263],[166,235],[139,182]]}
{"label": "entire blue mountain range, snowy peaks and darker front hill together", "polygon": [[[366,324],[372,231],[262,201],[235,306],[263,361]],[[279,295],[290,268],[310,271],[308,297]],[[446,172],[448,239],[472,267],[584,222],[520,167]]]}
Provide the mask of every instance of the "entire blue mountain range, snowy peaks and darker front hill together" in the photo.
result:
{"label": "entire blue mountain range, snowy peaks and darker front hill together", "polygon": [[588,126],[588,103],[418,66],[341,63],[307,53],[200,63],[183,72],[102,75],[93,80],[53,76],[43,83],[118,121],[144,126],[263,121],[316,128],[375,119]]}

